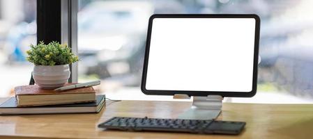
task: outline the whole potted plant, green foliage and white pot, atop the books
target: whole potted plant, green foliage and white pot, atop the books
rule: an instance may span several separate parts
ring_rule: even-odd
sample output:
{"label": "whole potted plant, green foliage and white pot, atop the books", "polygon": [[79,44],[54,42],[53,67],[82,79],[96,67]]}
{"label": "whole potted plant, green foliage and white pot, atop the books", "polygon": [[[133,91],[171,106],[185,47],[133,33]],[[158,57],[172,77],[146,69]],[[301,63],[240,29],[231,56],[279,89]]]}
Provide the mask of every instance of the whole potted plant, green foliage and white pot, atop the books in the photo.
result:
{"label": "whole potted plant, green foliage and white pot, atop the books", "polygon": [[66,44],[50,42],[30,45],[26,51],[27,60],[35,65],[33,79],[41,88],[54,89],[63,86],[70,77],[70,63],[75,63],[78,57],[72,54]]}

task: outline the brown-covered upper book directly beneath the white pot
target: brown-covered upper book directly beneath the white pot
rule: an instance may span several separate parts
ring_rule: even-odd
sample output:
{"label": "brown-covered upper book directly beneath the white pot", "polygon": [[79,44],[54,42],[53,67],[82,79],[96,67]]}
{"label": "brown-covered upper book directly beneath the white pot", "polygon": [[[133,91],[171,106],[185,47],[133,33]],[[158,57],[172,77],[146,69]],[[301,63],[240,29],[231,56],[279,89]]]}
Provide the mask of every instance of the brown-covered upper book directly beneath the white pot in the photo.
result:
{"label": "brown-covered upper book directly beneath the white pot", "polygon": [[74,104],[96,101],[96,91],[88,87],[56,92],[38,85],[23,85],[15,87],[15,98],[17,107]]}

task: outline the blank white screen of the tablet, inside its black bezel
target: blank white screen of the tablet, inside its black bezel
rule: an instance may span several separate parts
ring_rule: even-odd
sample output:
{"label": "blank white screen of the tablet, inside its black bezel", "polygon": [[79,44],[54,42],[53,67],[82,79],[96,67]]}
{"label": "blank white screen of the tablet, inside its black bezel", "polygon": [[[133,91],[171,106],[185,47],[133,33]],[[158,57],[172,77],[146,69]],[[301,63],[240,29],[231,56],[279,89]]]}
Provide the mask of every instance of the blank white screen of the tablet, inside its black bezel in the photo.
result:
{"label": "blank white screen of the tablet, inside its black bezel", "polygon": [[255,19],[155,18],[146,90],[250,92]]}

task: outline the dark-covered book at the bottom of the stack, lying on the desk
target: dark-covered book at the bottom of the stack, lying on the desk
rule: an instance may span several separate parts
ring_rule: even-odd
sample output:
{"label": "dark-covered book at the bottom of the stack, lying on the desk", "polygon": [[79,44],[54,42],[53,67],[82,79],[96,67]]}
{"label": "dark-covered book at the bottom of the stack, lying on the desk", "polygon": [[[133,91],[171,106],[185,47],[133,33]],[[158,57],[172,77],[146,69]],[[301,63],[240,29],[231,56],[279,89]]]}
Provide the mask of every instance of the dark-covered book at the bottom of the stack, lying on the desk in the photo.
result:
{"label": "dark-covered book at the bottom of the stack, lying on the desk", "polygon": [[99,113],[104,105],[105,95],[97,95],[96,102],[33,107],[17,107],[15,97],[11,97],[0,105],[0,115]]}

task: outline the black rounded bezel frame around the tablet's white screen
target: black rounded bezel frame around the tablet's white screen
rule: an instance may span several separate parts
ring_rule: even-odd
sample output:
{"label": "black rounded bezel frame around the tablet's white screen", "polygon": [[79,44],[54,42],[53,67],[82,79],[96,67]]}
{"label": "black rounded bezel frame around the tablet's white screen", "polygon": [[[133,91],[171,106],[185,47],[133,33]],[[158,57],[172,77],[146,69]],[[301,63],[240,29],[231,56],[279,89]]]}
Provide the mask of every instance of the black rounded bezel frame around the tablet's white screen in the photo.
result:
{"label": "black rounded bezel frame around the tablet's white screen", "polygon": [[[250,92],[222,92],[222,91],[192,91],[192,90],[146,90],[146,74],[148,70],[148,58],[151,41],[151,31],[153,19],[155,18],[254,18],[255,19],[255,35],[254,35],[254,61],[253,61],[253,77],[252,90]],[[222,97],[253,97],[257,92],[257,67],[259,58],[259,32],[260,18],[254,14],[156,14],[151,15],[148,22],[148,33],[146,36],[146,50],[144,54],[144,68],[142,71],[142,92],[146,95],[176,95],[183,94],[188,96],[208,96],[221,95]]]}

